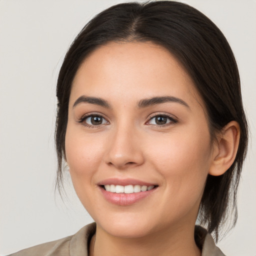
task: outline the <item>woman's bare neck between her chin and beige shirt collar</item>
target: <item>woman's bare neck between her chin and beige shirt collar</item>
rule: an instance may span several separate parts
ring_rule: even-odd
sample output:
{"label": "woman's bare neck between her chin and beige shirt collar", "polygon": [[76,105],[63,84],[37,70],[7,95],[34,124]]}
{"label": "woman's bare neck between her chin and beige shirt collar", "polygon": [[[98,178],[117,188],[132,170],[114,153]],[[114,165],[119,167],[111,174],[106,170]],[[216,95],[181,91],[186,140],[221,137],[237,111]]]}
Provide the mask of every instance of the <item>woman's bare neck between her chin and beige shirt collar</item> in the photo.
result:
{"label": "woman's bare neck between her chin and beige shirt collar", "polygon": [[166,228],[143,237],[123,238],[112,236],[97,226],[90,246],[89,256],[200,256],[194,241],[194,226]]}

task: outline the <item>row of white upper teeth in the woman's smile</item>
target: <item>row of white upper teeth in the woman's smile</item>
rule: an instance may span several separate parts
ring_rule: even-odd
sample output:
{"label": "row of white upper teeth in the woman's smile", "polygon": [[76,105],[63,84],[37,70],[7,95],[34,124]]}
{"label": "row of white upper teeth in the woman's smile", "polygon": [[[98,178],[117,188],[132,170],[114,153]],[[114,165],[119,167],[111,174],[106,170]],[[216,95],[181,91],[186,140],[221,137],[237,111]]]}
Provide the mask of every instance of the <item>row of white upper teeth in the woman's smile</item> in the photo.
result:
{"label": "row of white upper teeth in the woman's smile", "polygon": [[153,185],[151,186],[146,186],[146,185],[143,185],[143,186],[140,186],[140,185],[126,185],[126,186],[121,186],[121,185],[113,185],[113,184],[107,184],[107,185],[104,185],[104,188],[106,191],[110,191],[112,193],[126,193],[126,194],[129,194],[129,193],[137,193],[137,192],[140,192],[140,191],[146,191],[146,190],[150,190],[152,188],[154,188]]}

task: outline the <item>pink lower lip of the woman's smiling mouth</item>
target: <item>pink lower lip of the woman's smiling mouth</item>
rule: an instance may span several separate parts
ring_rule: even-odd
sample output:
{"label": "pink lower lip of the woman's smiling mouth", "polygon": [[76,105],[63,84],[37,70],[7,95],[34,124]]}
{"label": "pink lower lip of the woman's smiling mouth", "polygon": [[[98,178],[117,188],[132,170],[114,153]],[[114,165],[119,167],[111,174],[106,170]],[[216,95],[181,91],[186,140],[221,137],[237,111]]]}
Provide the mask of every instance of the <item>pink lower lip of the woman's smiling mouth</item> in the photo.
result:
{"label": "pink lower lip of the woman's smiling mouth", "polygon": [[101,186],[99,188],[107,201],[117,205],[130,205],[134,202],[137,202],[147,197],[156,189],[156,187],[154,187],[147,191],[126,194],[126,193],[112,193],[112,192],[106,191]]}

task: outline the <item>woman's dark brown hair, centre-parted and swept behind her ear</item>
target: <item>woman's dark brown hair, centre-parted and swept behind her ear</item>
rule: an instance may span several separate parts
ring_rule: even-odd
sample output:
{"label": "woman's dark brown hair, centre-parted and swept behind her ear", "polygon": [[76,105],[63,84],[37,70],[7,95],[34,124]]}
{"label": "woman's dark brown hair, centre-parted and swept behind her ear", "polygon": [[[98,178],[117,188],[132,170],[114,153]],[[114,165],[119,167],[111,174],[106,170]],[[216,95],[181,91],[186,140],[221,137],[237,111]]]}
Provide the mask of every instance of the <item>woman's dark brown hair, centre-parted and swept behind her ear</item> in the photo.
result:
{"label": "woman's dark brown hair, centre-parted and swept behind her ear", "polygon": [[204,101],[211,138],[231,120],[240,126],[238,151],[220,176],[208,175],[198,220],[218,239],[228,212],[236,222],[236,191],[248,140],[240,79],[232,50],[217,26],[195,8],[175,1],[129,2],[111,6],[92,18],[75,37],[59,71],[55,145],[56,188],[62,187],[68,101],[73,78],[82,61],[110,41],[156,43],[169,50],[193,79]]}

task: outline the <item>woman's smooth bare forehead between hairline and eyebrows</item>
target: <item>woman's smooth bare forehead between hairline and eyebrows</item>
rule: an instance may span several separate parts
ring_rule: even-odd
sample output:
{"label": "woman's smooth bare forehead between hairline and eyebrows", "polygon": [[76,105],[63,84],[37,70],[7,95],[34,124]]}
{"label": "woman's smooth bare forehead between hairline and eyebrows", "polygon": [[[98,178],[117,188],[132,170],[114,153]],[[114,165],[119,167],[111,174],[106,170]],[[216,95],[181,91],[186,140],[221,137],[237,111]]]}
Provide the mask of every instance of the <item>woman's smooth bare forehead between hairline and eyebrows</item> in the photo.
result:
{"label": "woman's smooth bare forehead between hairline and eyebrows", "polygon": [[71,97],[81,94],[122,98],[123,102],[156,94],[199,98],[179,61],[152,42],[109,42],[98,47],[74,77]]}

